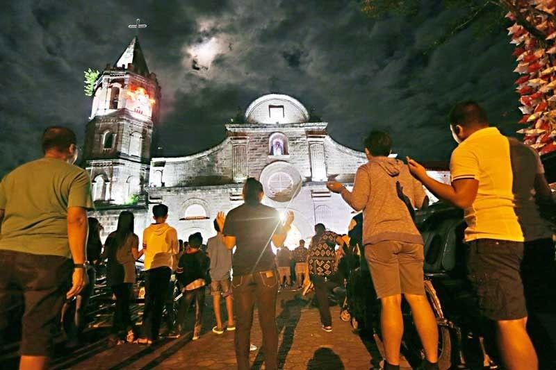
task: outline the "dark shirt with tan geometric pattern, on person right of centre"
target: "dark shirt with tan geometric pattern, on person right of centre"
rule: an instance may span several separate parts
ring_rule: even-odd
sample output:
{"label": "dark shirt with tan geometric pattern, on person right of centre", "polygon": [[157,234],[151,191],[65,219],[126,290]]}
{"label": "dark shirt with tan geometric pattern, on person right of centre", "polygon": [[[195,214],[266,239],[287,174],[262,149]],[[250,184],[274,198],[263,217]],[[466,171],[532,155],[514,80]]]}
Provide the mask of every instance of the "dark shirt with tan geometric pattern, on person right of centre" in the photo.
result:
{"label": "dark shirt with tan geometric pattern, on person right of centre", "polygon": [[320,237],[313,237],[309,247],[309,274],[329,277],[336,274],[336,239],[338,234],[325,231]]}

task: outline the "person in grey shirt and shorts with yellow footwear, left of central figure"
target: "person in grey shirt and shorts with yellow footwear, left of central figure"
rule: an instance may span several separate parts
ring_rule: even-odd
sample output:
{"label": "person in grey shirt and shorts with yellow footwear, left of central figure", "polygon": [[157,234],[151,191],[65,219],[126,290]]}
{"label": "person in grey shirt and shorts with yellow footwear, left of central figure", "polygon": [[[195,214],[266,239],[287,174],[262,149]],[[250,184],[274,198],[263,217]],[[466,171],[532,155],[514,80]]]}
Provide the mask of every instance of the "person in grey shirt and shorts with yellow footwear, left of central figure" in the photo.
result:
{"label": "person in grey shirt and shorts with yellow footwear, left of central figure", "polygon": [[216,326],[213,333],[223,334],[222,317],[220,317],[220,296],[226,299],[226,309],[228,311],[227,330],[236,330],[234,323],[234,303],[231,296],[231,249],[227,249],[222,240],[222,231],[216,221],[214,221],[216,236],[208,239],[206,243],[206,253],[211,258],[211,294],[213,296],[214,315]]}

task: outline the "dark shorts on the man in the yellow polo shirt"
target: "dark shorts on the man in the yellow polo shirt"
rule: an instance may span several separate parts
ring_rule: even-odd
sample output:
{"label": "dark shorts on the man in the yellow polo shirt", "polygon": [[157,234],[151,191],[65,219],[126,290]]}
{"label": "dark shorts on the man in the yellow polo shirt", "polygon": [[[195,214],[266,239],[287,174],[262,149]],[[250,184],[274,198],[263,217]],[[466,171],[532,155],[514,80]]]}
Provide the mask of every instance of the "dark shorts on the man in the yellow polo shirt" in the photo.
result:
{"label": "dark shorts on the man in the yellow polo shirt", "polygon": [[527,317],[521,280],[523,242],[477,239],[468,246],[468,278],[484,317],[496,321]]}

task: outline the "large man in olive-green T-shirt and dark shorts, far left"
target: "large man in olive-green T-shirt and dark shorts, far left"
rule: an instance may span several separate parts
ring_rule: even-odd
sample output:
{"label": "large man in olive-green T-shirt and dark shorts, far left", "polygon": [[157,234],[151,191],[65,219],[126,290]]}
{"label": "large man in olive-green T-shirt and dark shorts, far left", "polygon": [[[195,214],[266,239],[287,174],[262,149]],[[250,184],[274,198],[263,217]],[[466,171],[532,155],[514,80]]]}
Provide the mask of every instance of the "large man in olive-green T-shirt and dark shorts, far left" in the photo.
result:
{"label": "large man in olive-green T-shirt and dark shorts, far left", "polygon": [[[87,171],[73,165],[76,141],[69,128],[47,128],[44,157],[0,183],[0,335],[22,326],[20,369],[49,367],[62,304],[87,284],[87,210],[94,205]],[[10,303],[19,298],[25,312],[12,322]]]}

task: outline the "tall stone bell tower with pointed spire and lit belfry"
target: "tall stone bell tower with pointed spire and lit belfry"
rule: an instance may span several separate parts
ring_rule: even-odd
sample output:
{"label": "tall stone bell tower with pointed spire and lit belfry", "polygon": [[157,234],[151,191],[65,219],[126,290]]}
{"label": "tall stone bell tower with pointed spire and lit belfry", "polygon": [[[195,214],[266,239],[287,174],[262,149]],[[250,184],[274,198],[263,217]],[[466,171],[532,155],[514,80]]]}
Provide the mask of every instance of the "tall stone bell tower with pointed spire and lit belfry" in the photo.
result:
{"label": "tall stone bell tower with pointed spire and lit belfry", "polygon": [[138,37],[95,82],[85,129],[85,168],[101,208],[137,205],[145,199],[151,144],[161,88],[149,72]]}

